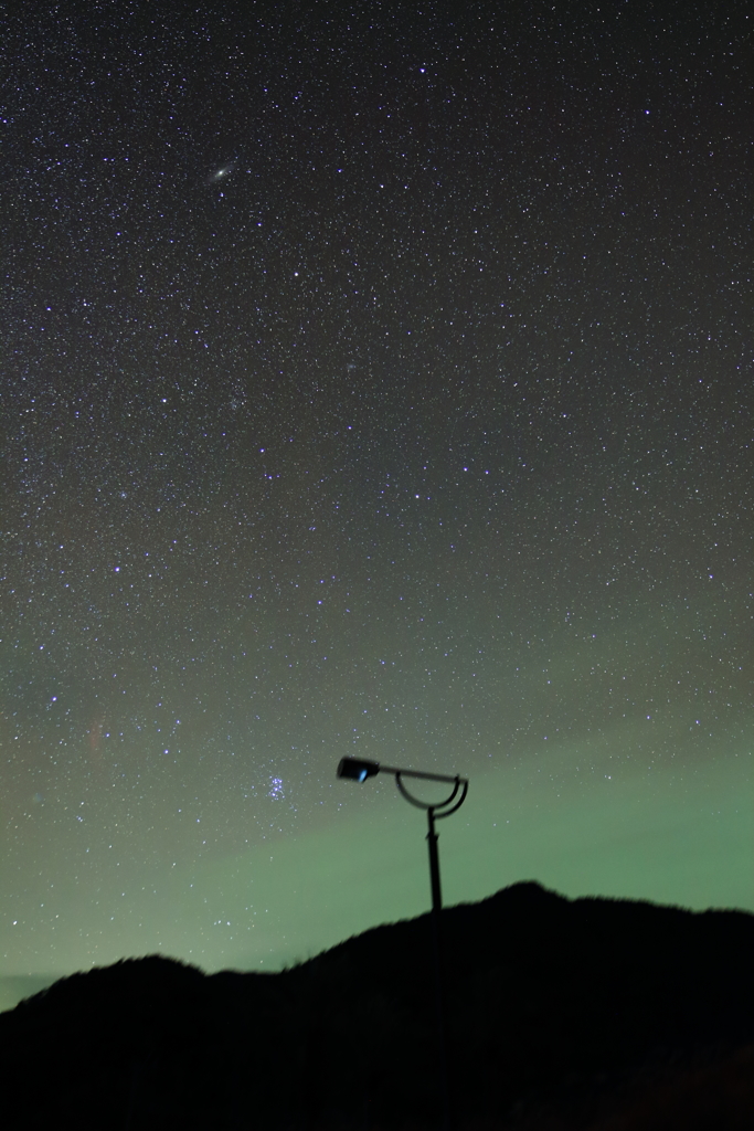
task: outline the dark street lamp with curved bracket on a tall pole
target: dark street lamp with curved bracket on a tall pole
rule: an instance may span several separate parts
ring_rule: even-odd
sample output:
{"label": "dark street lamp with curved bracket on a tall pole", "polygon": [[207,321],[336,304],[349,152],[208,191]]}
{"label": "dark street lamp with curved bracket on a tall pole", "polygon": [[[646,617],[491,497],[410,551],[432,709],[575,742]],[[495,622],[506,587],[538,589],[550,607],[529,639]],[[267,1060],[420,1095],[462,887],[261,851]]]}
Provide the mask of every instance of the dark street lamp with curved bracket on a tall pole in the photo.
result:
{"label": "dark street lamp with curved bracket on a tall pole", "polygon": [[[440,934],[440,912],[442,910],[442,892],[440,889],[440,856],[437,854],[437,834],[434,822],[441,817],[450,817],[456,813],[468,793],[468,778],[456,775],[448,777],[445,774],[423,774],[419,770],[402,770],[395,766],[382,766],[380,762],[372,762],[364,758],[341,758],[338,763],[338,777],[349,782],[366,782],[367,778],[378,774],[393,774],[399,793],[417,809],[425,809],[427,814],[428,831],[427,845],[430,848],[430,882],[432,884],[432,943],[434,951],[434,993],[435,1012],[437,1024],[437,1052],[439,1052],[439,1077],[443,1093],[443,1126],[444,1131],[451,1131],[454,1125],[452,1111],[450,1077],[448,1073],[448,1052],[445,1046],[445,1025],[442,992],[442,940]],[[414,797],[404,785],[406,777],[422,778],[425,782],[447,782],[453,788],[444,801],[426,802]]]}

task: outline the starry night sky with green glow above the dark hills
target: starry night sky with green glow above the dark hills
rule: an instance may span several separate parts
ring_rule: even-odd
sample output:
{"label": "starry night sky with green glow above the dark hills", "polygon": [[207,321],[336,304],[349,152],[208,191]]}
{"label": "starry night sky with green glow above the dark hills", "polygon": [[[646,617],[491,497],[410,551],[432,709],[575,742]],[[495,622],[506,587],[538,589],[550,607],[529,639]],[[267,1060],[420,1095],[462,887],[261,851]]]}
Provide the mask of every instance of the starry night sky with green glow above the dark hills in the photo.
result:
{"label": "starry night sky with green glow above the dark hills", "polygon": [[448,903],[754,909],[747,8],[7,17],[8,1003],[423,913],[346,754]]}

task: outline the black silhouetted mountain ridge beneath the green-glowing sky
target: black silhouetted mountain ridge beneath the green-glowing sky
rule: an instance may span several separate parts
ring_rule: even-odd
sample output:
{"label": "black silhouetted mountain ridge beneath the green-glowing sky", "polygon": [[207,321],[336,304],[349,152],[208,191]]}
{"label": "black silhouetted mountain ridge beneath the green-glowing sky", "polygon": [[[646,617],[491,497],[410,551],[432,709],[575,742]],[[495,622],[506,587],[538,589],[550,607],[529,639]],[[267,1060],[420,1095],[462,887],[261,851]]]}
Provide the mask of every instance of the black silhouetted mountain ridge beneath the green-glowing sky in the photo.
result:
{"label": "black silhouetted mountain ridge beneath the green-glowing sky", "polygon": [[[441,1128],[430,918],[63,978],[0,1015],[2,1126]],[[442,920],[459,1129],[754,1129],[754,915],[519,883]]]}

